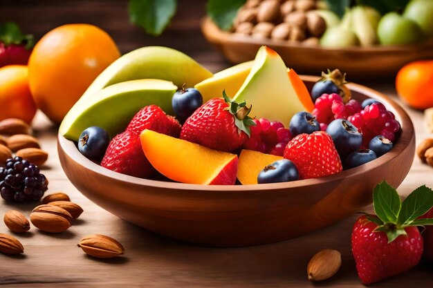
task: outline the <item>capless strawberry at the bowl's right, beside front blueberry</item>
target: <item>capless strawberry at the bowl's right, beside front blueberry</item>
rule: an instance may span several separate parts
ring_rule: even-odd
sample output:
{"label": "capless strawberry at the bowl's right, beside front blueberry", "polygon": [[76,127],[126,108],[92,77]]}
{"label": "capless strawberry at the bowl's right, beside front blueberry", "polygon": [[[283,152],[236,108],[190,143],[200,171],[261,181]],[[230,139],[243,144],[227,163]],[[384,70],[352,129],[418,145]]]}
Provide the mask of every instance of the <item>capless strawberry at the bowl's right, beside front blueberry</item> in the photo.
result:
{"label": "capless strawberry at the bowl's right, beside front blueberry", "polygon": [[300,134],[284,148],[284,158],[297,166],[301,179],[333,175],[342,164],[331,136],[324,131]]}

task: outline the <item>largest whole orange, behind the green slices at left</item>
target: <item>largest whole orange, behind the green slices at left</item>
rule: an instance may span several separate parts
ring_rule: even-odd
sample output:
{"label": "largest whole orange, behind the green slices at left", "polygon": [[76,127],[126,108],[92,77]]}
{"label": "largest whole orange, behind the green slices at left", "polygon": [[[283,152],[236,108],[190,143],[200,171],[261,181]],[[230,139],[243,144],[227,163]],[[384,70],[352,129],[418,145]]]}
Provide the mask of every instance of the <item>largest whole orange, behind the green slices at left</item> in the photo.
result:
{"label": "largest whole orange, behind the green slices at left", "polygon": [[80,99],[120,52],[113,39],[89,24],[66,24],[37,42],[28,61],[30,90],[37,107],[53,122]]}

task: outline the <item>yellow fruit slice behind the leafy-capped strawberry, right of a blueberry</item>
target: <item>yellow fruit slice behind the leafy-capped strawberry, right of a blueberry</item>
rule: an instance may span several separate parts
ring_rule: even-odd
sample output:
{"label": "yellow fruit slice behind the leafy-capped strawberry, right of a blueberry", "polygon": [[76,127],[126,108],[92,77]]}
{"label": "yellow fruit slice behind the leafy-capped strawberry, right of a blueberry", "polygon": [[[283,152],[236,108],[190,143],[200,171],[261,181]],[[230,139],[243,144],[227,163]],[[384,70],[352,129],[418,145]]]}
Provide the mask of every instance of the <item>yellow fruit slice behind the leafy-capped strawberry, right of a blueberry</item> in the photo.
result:
{"label": "yellow fruit slice behind the leafy-capped strawberry, right of a blueberry", "polygon": [[203,103],[215,97],[222,97],[223,90],[229,97],[233,97],[250,73],[252,64],[254,61],[247,61],[222,70],[196,84],[194,88],[200,91]]}

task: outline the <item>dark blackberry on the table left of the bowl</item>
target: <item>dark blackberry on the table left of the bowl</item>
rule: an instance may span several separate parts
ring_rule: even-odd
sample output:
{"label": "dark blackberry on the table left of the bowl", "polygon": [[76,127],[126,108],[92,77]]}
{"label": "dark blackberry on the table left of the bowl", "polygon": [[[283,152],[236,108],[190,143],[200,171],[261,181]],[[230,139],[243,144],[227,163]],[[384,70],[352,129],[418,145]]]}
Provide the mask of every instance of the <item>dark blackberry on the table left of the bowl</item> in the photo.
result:
{"label": "dark blackberry on the table left of the bowl", "polygon": [[28,160],[9,158],[0,166],[0,194],[8,202],[37,201],[47,189],[46,177]]}

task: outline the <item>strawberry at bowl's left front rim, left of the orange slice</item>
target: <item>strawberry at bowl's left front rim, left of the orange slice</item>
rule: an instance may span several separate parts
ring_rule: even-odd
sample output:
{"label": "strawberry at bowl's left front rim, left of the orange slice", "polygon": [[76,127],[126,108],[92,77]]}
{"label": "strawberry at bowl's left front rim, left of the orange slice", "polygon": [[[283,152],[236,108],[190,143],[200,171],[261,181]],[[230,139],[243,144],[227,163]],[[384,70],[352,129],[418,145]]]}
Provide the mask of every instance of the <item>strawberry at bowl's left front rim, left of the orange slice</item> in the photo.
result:
{"label": "strawberry at bowl's left front rim, left of the orange slice", "polygon": [[154,168],[143,153],[137,133],[125,131],[111,140],[101,166],[135,177],[149,177]]}

